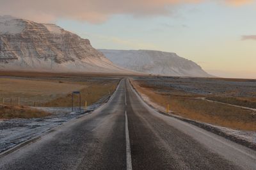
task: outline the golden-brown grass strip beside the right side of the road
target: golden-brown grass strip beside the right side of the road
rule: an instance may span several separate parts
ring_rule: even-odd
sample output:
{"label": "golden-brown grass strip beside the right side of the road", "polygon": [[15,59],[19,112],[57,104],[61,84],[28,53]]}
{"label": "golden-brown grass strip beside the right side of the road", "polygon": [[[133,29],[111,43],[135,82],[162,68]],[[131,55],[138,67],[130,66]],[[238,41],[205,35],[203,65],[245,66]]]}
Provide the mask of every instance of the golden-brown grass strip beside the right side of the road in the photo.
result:
{"label": "golden-brown grass strip beside the right side of the road", "polygon": [[172,88],[148,86],[143,81],[132,81],[134,87],[158,105],[170,109],[179,116],[237,130],[256,131],[256,113],[230,105],[196,99],[204,97]]}

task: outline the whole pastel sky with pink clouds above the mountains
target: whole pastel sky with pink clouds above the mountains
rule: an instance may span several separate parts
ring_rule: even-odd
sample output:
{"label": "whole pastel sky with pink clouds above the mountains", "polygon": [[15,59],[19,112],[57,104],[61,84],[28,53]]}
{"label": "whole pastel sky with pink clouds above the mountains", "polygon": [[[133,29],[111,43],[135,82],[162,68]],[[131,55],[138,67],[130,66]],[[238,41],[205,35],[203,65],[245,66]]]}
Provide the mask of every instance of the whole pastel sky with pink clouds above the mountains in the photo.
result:
{"label": "whole pastel sky with pink clouds above the mountains", "polygon": [[175,52],[213,75],[256,79],[255,0],[0,0],[0,15],[57,24],[96,49]]}

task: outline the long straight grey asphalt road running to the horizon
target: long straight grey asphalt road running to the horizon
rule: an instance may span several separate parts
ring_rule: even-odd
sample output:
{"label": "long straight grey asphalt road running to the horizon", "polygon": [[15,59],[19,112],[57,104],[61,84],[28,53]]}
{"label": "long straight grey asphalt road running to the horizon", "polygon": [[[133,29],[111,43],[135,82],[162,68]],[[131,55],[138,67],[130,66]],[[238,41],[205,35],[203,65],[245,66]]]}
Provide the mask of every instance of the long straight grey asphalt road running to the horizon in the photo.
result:
{"label": "long straight grey asphalt road running to the horizon", "polygon": [[0,169],[256,169],[256,153],[159,114],[123,80],[107,104],[1,157]]}

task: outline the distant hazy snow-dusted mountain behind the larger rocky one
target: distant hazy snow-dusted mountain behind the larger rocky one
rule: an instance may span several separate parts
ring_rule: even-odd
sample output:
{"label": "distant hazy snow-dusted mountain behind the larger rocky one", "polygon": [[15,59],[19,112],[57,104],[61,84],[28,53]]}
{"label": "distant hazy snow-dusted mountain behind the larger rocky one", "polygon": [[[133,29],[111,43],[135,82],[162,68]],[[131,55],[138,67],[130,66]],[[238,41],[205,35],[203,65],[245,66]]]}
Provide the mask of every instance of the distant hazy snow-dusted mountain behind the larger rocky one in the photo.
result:
{"label": "distant hazy snow-dusted mountain behind the larger rocky one", "polygon": [[99,49],[118,66],[154,75],[183,77],[212,77],[195,62],[172,52],[156,50],[106,50]]}

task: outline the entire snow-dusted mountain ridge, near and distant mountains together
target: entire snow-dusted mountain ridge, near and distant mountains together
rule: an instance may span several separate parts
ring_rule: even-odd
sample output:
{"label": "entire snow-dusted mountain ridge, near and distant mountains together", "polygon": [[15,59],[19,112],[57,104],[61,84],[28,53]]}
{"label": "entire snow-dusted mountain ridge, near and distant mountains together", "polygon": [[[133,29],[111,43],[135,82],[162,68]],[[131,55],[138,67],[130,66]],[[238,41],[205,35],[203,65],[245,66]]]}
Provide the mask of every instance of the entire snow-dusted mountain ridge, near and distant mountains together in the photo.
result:
{"label": "entire snow-dusted mountain ridge, near and distant mountains together", "polygon": [[90,40],[60,26],[10,15],[0,16],[0,70],[212,77],[173,52],[97,50]]}

